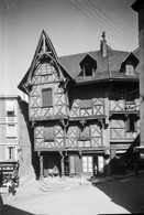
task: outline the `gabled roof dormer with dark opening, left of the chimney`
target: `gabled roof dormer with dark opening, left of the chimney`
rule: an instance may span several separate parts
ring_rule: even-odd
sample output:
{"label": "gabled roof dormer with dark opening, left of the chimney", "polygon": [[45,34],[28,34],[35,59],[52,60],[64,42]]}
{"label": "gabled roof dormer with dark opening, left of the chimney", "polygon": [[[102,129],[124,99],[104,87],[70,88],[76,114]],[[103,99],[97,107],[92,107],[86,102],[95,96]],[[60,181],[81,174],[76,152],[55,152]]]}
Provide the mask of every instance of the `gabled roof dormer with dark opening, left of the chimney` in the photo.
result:
{"label": "gabled roof dormer with dark opening, left of the chimney", "polygon": [[95,76],[97,69],[97,61],[87,54],[79,63],[81,67],[80,76]]}

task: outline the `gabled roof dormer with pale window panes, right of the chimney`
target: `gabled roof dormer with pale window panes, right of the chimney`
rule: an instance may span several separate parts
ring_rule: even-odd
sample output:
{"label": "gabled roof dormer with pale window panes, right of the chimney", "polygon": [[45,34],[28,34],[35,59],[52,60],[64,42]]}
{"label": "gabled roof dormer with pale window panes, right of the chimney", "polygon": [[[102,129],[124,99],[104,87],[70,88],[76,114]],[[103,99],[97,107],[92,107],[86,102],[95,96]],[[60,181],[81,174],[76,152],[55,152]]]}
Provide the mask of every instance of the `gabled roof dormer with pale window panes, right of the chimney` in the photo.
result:
{"label": "gabled roof dormer with pale window panes, right of the chimney", "polygon": [[130,53],[122,62],[120,72],[125,73],[126,76],[134,76],[137,64],[139,58],[133,53]]}

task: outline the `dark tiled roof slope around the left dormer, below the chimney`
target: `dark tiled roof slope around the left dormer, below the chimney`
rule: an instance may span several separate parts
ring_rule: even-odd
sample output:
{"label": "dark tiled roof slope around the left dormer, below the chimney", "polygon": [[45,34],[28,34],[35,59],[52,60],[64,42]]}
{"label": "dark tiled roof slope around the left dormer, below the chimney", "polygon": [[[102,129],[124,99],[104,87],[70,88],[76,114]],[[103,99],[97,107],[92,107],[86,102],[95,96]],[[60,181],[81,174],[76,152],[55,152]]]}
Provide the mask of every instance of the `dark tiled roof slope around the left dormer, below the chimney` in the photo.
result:
{"label": "dark tiled roof slope around the left dormer, below the chimney", "polygon": [[106,57],[102,56],[100,51],[93,51],[93,52],[60,56],[58,60],[60,64],[65,67],[65,69],[74,78],[77,78],[81,72],[79,63],[87,54],[89,54],[91,57],[93,57],[93,60],[97,61],[98,67],[97,67],[96,76],[98,77],[99,73],[103,73],[108,71],[119,72],[121,64],[123,60],[129,55],[129,52],[115,51],[108,46],[108,55]]}

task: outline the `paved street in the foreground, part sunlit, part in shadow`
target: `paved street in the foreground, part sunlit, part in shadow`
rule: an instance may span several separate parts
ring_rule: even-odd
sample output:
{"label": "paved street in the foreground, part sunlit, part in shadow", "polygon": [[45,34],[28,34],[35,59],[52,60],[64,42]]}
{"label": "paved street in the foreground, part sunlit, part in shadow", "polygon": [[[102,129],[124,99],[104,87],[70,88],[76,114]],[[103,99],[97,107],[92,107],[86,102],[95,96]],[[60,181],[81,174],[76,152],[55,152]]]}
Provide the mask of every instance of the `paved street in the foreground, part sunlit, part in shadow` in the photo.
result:
{"label": "paved street in the foreground, part sunlit, part in shadow", "polygon": [[[64,192],[11,196],[2,215],[96,215],[141,213],[144,205],[144,178],[133,176]],[[7,204],[7,197],[4,201]]]}

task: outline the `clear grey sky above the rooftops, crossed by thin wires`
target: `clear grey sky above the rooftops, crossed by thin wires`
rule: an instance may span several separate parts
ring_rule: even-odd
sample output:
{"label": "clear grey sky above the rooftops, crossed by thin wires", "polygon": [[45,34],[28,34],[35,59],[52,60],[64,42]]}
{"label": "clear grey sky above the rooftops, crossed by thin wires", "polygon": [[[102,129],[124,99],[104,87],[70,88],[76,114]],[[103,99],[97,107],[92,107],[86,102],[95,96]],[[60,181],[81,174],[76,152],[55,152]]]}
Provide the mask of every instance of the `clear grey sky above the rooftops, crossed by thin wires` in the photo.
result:
{"label": "clear grey sky above the rooftops, crossed by thin wires", "polygon": [[101,34],[113,50],[139,46],[135,0],[0,0],[0,95],[20,95],[42,30],[58,56],[100,49]]}

